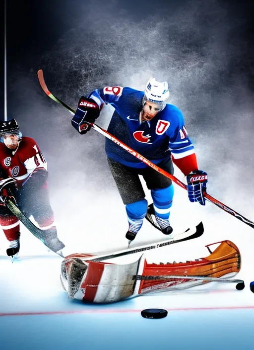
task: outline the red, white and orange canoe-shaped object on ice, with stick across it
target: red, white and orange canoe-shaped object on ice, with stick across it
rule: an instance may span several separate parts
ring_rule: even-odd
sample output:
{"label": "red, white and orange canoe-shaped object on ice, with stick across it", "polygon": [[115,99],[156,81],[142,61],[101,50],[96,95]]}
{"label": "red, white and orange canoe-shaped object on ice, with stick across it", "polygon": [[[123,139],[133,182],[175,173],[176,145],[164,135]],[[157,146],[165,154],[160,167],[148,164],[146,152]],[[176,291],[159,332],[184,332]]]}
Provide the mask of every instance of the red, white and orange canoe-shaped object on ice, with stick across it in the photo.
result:
{"label": "red, white and orange canoe-shaped object on ice, with stick across it", "polygon": [[[213,252],[209,246],[220,244]],[[71,254],[61,264],[61,282],[70,299],[110,303],[165,290],[187,289],[207,282],[237,283],[230,279],[241,268],[241,255],[231,241],[206,246],[208,257],[185,263],[148,263],[145,254],[131,263],[96,262],[85,254]],[[166,258],[167,259],[167,258]],[[223,277],[223,278],[222,278]]]}

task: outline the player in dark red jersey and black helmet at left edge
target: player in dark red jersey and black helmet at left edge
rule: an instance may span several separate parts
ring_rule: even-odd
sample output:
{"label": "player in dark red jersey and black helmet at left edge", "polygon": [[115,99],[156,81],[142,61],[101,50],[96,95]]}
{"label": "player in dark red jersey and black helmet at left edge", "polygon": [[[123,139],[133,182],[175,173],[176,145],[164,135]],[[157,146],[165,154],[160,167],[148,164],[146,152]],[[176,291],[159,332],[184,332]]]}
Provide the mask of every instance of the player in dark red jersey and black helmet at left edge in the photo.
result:
{"label": "player in dark red jersey and black helmet at left edge", "polygon": [[5,206],[12,198],[27,216],[33,216],[41,230],[47,230],[45,244],[61,251],[47,188],[47,162],[30,137],[22,137],[15,119],[0,122],[0,226],[9,241],[8,256],[19,252],[19,220]]}

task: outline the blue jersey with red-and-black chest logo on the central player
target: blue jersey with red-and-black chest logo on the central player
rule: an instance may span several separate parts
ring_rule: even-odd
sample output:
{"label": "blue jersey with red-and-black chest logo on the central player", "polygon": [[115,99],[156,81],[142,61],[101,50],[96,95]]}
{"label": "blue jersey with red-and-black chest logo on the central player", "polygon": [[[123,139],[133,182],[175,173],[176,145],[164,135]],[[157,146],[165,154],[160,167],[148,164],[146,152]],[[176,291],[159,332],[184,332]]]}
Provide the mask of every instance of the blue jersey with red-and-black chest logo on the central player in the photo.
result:
{"label": "blue jersey with red-and-black chest logo on the central player", "polygon": [[[176,160],[194,154],[180,109],[167,103],[150,121],[141,121],[143,96],[143,91],[130,87],[104,87],[88,97],[100,107],[110,103],[115,108],[108,132],[154,164],[169,159],[171,154]],[[147,167],[109,139],[106,154],[128,167]]]}

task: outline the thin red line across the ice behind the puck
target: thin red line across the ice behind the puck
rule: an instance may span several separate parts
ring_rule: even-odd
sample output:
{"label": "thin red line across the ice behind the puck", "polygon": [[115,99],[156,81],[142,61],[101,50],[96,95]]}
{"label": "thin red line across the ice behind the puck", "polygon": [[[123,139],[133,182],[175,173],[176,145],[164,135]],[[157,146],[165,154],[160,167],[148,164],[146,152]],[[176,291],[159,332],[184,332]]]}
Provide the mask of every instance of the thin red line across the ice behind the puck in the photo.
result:
{"label": "thin red line across the ice behind the puck", "polygon": [[[166,309],[167,311],[208,311],[208,310],[243,310],[254,309],[254,305],[251,306],[218,306],[218,307],[194,307],[194,308],[172,308]],[[35,316],[35,315],[66,315],[66,314],[114,314],[114,313],[133,313],[141,312],[142,310],[76,310],[76,311],[39,311],[39,312],[6,312],[0,313],[2,316]]]}

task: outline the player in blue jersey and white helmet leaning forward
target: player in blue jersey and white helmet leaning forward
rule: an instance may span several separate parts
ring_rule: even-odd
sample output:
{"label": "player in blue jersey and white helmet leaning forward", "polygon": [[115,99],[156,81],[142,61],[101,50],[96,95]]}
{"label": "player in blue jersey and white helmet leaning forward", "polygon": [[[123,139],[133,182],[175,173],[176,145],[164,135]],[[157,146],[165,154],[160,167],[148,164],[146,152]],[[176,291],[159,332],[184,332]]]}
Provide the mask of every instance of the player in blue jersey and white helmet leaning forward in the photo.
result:
{"label": "player in blue jersey and white helmet leaning forward", "polygon": [[[166,103],[169,97],[167,82],[151,78],[145,91],[130,87],[95,89],[87,97],[81,96],[71,120],[72,126],[85,134],[91,129],[104,104],[114,108],[108,132],[143,157],[173,175],[174,164],[187,176],[191,202],[205,205],[207,173],[198,170],[194,146],[186,130],[179,108]],[[126,205],[128,231],[132,241],[147,213],[147,200],[139,176],[142,175],[151,191],[157,227],[169,235],[173,229],[169,216],[174,195],[171,180],[140,162],[133,155],[106,139],[106,154],[111,173]]]}

